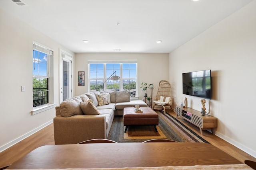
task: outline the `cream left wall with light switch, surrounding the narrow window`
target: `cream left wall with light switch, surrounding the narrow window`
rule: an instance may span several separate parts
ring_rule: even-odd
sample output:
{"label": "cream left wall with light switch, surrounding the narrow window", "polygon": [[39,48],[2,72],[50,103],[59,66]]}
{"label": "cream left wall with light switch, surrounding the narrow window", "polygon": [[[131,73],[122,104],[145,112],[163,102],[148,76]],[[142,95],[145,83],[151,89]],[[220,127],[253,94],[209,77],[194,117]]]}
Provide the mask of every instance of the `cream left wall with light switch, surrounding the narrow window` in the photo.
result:
{"label": "cream left wall with light switch, surrounding the narrow window", "polygon": [[[0,152],[44,127],[55,116],[55,108],[31,115],[33,41],[54,49],[53,93],[58,105],[59,48],[68,49],[0,9]],[[21,92],[21,86],[25,86],[25,92]]]}

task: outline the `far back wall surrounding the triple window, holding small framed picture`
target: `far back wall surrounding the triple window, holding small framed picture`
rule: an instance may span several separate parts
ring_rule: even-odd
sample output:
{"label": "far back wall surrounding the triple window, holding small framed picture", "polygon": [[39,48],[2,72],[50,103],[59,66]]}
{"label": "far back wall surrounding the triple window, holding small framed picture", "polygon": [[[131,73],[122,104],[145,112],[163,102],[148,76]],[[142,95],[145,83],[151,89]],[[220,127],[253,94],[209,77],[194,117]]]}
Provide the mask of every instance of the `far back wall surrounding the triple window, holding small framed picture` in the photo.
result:
{"label": "far back wall surrounding the triple window, holding small framed picture", "polygon": [[[144,92],[140,89],[141,82],[154,84],[153,98],[156,97],[160,80],[169,80],[169,55],[166,53],[76,53],[75,83],[76,94],[88,92],[88,82],[78,86],[78,71],[85,71],[88,80],[88,60],[138,60],[138,96],[142,100]],[[147,91],[148,94],[151,91]],[[151,94],[150,94],[151,95]]]}

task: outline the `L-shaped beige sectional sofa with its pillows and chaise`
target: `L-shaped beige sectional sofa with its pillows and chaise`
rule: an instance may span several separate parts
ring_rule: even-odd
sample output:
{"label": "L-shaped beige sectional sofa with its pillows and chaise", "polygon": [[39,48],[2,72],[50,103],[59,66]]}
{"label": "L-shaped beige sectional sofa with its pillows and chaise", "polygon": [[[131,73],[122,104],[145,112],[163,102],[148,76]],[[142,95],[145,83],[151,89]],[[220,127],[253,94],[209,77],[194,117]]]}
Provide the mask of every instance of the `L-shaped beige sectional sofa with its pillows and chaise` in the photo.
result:
{"label": "L-shaped beige sectional sofa with its pillows and chaise", "polygon": [[130,101],[129,92],[88,92],[63,101],[56,107],[54,140],[56,145],[76,144],[88,139],[108,137],[114,115],[124,107],[147,107],[142,100]]}

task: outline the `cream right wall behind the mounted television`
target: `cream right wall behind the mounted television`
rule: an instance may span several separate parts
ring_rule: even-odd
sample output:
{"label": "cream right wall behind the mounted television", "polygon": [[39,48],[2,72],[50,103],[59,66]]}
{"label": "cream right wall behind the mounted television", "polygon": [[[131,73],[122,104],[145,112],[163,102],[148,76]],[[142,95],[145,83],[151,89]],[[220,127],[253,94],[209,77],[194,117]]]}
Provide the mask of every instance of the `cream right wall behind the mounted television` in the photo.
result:
{"label": "cream right wall behind the mounted television", "polygon": [[[182,73],[212,70],[211,114],[216,135],[256,157],[256,0],[170,53],[176,105],[200,110],[201,98],[182,95]],[[209,104],[206,102],[206,109]],[[207,110],[208,111],[208,110]]]}

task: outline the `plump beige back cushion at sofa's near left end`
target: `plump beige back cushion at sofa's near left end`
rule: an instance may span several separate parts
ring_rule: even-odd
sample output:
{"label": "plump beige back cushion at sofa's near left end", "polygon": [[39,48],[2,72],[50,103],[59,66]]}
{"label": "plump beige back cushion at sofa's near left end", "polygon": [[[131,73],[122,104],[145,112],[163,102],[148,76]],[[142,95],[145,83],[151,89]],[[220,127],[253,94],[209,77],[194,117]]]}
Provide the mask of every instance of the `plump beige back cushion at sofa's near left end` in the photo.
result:
{"label": "plump beige back cushion at sofa's near left end", "polygon": [[78,96],[61,102],[60,114],[63,117],[70,117],[73,115],[83,115],[82,109],[80,108],[80,102],[82,102],[82,99]]}

